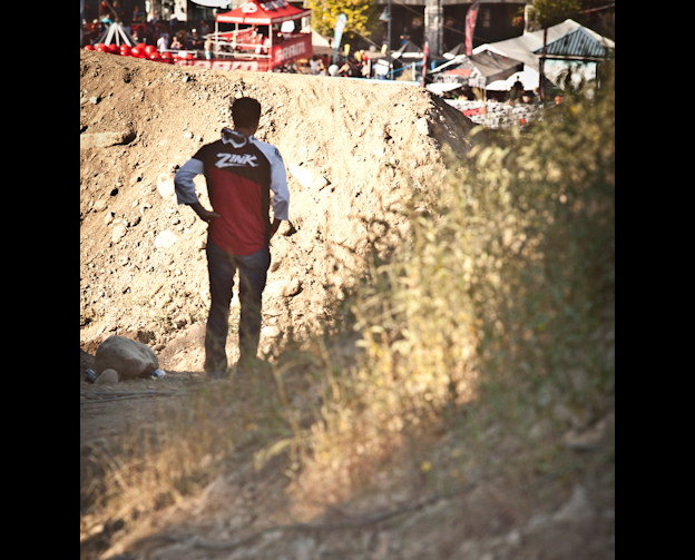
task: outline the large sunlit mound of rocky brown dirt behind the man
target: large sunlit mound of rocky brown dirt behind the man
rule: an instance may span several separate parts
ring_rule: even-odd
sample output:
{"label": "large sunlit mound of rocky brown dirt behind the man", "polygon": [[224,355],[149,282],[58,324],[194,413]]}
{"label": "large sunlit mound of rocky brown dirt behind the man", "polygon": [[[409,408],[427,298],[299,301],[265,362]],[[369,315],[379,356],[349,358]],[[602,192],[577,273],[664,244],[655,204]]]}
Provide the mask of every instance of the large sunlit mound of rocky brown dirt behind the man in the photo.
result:
{"label": "large sunlit mound of rocky brown dirt behind the man", "polygon": [[[202,337],[206,225],[177,206],[173,177],[219,137],[231,101],[242,96],[263,104],[257,137],[281,149],[293,197],[292,227],[273,242],[264,327],[278,328],[265,328],[266,344],[278,331],[310,328],[325,308],[326,286],[350,281],[351,252],[336,249],[337,263],[329,253],[335,245],[363,249],[361,217],[401,226],[383,208],[412,186],[427,188],[444,146],[469,146],[472,124],[412,86],[80,51],[80,345],[88,352],[110,334],[159,351],[174,337]],[[206,203],[202,178],[198,189]],[[163,365],[199,369],[199,345],[180,346]]]}

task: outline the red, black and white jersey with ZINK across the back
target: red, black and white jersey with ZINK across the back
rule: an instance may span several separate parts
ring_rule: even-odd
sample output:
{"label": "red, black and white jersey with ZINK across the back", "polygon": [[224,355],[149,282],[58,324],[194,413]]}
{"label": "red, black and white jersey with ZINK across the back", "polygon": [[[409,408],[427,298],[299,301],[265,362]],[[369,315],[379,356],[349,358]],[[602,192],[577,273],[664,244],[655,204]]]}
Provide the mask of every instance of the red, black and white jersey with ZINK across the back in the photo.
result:
{"label": "red, black and white jersey with ZINK across the back", "polygon": [[276,147],[225,128],[219,141],[204,146],[176,174],[178,204],[195,204],[193,179],[205,175],[215,218],[211,237],[237,256],[265,247],[271,238],[271,191],[275,219],[288,220],[287,171]]}

